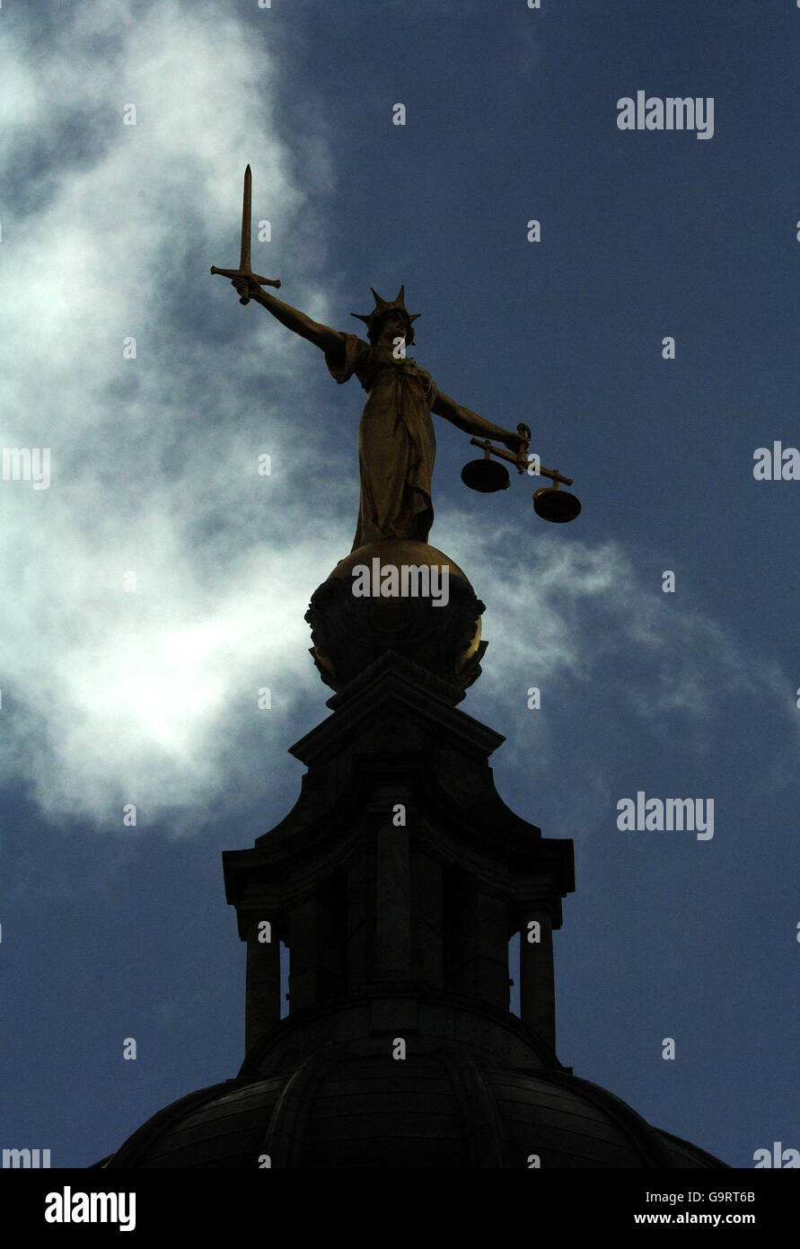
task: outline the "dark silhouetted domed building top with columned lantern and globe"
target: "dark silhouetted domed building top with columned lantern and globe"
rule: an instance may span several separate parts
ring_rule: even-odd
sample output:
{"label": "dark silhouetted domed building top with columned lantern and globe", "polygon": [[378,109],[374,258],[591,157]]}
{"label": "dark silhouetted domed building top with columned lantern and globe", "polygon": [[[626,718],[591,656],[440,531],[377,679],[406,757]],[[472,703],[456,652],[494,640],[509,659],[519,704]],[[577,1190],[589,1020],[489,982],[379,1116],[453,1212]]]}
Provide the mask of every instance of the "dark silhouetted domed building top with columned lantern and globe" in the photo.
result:
{"label": "dark silhouetted domed building top with columned lantern and globe", "polygon": [[[374,556],[447,567],[447,605],[354,597],[352,568]],[[482,611],[452,561],[399,540],[315,593],[332,714],[292,747],[307,767],[293,809],[223,856],[247,947],[245,1062],[99,1165],[725,1165],[557,1057],[553,932],[573,843],[505,806],[489,766],[503,738],[458,706],[480,671]]]}

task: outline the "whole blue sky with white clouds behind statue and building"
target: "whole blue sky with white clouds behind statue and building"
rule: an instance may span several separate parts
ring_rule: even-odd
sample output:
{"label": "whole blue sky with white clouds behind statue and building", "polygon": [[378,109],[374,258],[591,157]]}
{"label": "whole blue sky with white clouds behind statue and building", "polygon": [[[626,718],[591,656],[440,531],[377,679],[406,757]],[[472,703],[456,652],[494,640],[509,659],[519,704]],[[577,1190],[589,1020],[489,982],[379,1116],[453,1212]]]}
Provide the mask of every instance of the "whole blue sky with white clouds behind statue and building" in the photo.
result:
{"label": "whole blue sky with white clouds behind statue and building", "polygon": [[[545,526],[436,422],[431,541],[487,603],[463,709],[575,842],[562,1062],[733,1165],[800,1148],[800,482],[753,476],[800,446],[799,51],[789,0],[2,6],[0,446],[51,481],[0,482],[0,1145],[86,1165],[242,1058],[220,853],[327,714],[303,612],[363,400],[208,275],[250,161],[282,297],[352,330],[404,282],[439,387],[575,480]],[[713,137],[619,130],[638,90],[713,97]],[[714,837],[619,831],[638,791]]]}

